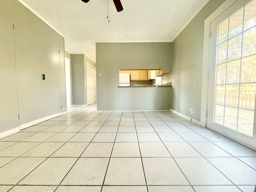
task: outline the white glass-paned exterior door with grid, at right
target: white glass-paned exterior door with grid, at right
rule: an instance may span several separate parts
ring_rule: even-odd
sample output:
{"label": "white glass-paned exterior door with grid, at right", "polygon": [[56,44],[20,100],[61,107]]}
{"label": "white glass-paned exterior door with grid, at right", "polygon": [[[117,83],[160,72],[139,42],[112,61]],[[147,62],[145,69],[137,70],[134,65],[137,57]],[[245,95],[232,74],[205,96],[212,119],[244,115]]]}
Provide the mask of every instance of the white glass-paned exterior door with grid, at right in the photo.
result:
{"label": "white glass-paned exterior door with grid, at right", "polygon": [[207,127],[256,149],[256,0],[211,25]]}

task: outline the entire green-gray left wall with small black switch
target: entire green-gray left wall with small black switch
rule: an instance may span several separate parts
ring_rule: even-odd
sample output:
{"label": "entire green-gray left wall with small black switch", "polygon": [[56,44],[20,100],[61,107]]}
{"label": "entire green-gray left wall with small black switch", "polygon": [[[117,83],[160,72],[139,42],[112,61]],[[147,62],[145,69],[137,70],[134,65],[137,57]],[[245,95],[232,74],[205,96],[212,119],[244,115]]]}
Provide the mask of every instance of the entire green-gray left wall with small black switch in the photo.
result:
{"label": "entire green-gray left wall with small black switch", "polygon": [[4,0],[0,42],[0,133],[66,111],[64,38],[17,0]]}

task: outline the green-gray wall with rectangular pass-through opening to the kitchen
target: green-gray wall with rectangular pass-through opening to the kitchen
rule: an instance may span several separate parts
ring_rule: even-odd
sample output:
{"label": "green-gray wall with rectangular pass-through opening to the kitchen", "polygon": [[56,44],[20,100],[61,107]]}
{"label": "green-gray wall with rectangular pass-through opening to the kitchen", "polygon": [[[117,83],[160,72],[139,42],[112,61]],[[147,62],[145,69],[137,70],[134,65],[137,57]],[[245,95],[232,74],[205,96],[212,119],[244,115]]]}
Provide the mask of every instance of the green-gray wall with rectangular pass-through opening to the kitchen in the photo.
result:
{"label": "green-gray wall with rectangular pass-through opening to the kitchen", "polygon": [[[119,69],[170,73],[172,43],[96,43],[98,110],[167,110],[170,87],[118,88]],[[101,73],[101,76],[98,76]]]}

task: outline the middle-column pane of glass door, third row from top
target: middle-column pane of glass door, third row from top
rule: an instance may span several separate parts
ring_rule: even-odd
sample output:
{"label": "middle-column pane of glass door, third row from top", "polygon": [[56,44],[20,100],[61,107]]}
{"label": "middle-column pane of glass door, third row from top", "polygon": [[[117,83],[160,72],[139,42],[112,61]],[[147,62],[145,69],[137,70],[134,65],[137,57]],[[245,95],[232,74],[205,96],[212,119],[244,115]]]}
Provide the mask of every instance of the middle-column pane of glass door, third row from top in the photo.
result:
{"label": "middle-column pane of glass door, third row from top", "polygon": [[240,62],[236,60],[228,63],[227,67],[227,84],[239,83],[240,80]]}

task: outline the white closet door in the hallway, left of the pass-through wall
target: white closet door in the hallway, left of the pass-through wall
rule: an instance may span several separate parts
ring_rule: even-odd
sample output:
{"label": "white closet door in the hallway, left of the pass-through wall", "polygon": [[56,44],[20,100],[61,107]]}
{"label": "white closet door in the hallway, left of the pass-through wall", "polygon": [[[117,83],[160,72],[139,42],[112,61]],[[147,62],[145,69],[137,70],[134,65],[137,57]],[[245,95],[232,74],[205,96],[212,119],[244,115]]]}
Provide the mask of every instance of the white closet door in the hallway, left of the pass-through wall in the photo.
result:
{"label": "white closet door in the hallway, left of the pass-through wall", "polygon": [[87,104],[97,102],[96,69],[86,64]]}

